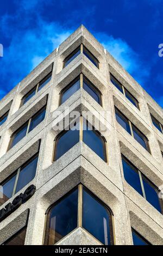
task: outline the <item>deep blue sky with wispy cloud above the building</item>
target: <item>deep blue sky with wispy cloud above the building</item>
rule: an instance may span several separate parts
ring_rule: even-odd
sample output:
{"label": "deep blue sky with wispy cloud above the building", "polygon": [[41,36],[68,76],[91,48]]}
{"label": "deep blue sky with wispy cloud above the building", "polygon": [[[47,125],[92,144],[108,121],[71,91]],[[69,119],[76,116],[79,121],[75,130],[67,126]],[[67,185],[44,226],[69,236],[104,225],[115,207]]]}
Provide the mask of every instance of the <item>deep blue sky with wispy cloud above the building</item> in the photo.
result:
{"label": "deep blue sky with wispy cloud above the building", "polygon": [[5,0],[0,99],[83,24],[163,107],[162,0]]}

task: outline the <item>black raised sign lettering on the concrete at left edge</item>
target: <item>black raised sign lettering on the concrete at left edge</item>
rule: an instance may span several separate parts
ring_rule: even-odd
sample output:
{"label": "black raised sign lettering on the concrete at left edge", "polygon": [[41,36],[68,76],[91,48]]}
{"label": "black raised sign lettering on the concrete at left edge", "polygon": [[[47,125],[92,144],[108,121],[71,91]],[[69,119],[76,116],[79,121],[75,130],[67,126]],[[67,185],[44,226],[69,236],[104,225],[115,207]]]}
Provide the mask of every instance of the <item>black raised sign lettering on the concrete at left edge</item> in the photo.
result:
{"label": "black raised sign lettering on the concrete at left edge", "polygon": [[5,208],[0,210],[0,222],[7,218],[12,212],[18,209],[23,203],[26,203],[29,198],[31,198],[36,191],[34,185],[30,185],[24,193],[15,197],[12,203],[5,205]]}

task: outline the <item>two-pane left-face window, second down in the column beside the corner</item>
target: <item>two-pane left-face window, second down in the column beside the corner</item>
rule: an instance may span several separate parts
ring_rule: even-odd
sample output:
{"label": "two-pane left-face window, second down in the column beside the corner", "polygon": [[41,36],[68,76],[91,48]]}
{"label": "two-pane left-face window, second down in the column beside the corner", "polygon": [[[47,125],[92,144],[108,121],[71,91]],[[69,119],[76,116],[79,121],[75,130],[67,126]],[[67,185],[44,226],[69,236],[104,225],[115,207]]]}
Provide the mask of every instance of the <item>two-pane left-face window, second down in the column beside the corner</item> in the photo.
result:
{"label": "two-pane left-face window, second down in the column beside the corner", "polygon": [[32,118],[30,118],[27,123],[25,123],[20,129],[18,129],[16,132],[13,133],[11,136],[9,149],[14,147],[19,141],[21,141],[22,138],[24,138],[27,133],[32,131],[37,125],[39,125],[43,119],[45,118],[46,113],[46,106],[41,108],[39,112],[37,112],[35,115],[33,115]]}

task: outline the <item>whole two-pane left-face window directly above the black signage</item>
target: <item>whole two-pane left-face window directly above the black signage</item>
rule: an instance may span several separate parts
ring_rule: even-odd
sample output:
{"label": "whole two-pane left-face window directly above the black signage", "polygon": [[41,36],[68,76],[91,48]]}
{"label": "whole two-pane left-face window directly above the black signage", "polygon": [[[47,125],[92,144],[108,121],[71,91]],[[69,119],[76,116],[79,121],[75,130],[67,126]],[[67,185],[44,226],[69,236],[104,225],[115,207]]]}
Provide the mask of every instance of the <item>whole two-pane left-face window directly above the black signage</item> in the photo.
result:
{"label": "whole two-pane left-face window directly above the black signage", "polygon": [[34,179],[37,161],[38,153],[18,168],[6,181],[2,182],[0,192],[3,197],[0,198],[0,206]]}

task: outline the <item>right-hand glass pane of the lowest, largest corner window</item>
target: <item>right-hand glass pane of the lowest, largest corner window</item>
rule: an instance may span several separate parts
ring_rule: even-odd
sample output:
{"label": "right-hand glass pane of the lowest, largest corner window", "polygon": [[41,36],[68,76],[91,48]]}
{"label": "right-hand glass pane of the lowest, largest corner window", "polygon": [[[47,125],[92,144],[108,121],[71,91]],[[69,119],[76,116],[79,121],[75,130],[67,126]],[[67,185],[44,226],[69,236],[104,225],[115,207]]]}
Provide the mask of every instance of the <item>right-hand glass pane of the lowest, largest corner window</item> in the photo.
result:
{"label": "right-hand glass pane of the lowest, largest corner window", "polygon": [[82,226],[104,245],[110,245],[109,211],[83,188]]}

